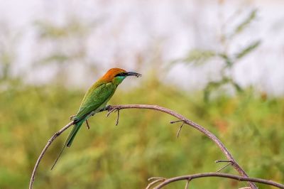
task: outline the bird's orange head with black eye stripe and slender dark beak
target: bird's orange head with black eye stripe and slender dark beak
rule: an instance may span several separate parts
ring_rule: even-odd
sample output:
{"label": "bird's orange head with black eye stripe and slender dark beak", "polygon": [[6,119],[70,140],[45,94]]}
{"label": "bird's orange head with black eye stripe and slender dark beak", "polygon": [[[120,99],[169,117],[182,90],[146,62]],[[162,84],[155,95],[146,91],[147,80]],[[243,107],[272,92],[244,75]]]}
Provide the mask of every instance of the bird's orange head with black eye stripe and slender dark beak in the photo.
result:
{"label": "bird's orange head with black eye stripe and slender dark beak", "polygon": [[111,68],[107,73],[102,77],[102,80],[107,82],[113,82],[115,85],[119,85],[127,76],[136,76],[140,77],[141,74],[136,72],[126,72],[121,68]]}

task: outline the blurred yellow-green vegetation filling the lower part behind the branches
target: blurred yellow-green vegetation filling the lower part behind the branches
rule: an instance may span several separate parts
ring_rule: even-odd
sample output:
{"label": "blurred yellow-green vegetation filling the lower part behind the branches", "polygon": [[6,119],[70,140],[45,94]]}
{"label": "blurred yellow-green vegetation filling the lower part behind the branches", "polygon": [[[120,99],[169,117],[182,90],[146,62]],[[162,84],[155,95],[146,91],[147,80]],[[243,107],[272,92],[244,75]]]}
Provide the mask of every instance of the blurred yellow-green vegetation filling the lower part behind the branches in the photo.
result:
{"label": "blurred yellow-green vegetation filling the lower part behind the branches", "polygon": [[[143,94],[143,95],[141,95]],[[204,102],[202,93],[180,91],[152,79],[128,91],[119,90],[111,104],[158,104],[179,112],[216,134],[252,177],[284,183],[284,99],[253,90],[235,97]],[[0,188],[27,188],[43,146],[77,112],[84,90],[65,87],[10,87],[0,93]],[[35,188],[145,188],[151,176],[173,177],[217,171],[225,159],[219,148],[191,127],[169,124],[173,117],[143,109],[106,112],[89,119],[76,141],[50,171],[66,131],[50,146],[40,163]],[[226,168],[225,173],[236,173]],[[183,188],[183,182],[168,188]],[[202,178],[190,188],[241,188],[245,183]],[[260,188],[267,188],[259,185]]]}

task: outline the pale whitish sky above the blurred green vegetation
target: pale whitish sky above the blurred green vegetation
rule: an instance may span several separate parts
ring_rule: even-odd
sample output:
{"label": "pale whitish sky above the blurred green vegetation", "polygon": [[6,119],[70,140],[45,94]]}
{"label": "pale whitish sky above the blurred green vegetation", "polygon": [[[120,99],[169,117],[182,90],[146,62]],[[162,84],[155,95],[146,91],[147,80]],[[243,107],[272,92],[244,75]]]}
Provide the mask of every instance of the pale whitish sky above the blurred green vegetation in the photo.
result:
{"label": "pale whitish sky above the blurred green vegetation", "polygon": [[[222,23],[238,10],[240,17],[231,25],[239,23],[251,9],[257,8],[258,18],[234,40],[230,52],[236,52],[258,38],[262,40],[261,46],[241,60],[233,74],[242,86],[254,85],[272,95],[283,95],[284,1],[219,2],[0,0],[0,26],[9,28],[6,33],[0,32],[0,42],[11,48],[16,47],[15,72],[32,70],[32,63],[52,50],[50,44],[38,42],[35,21],[49,21],[64,26],[70,16],[75,16],[84,24],[98,23],[82,41],[68,41],[62,48],[72,51],[78,43],[82,43],[79,45],[86,48],[87,59],[101,64],[102,72],[117,65],[118,61],[128,70],[136,69],[134,62],[140,54],[149,57],[146,59],[147,70],[154,70],[160,68],[151,64],[155,61],[155,50],[160,52],[160,60],[167,63],[184,57],[192,48],[219,49]],[[15,40],[16,36],[20,40]],[[51,48],[54,47],[51,45]],[[200,89],[208,79],[214,78],[219,65],[218,62],[200,68],[178,65],[170,70],[167,78],[186,89]],[[93,82],[90,80],[93,77],[85,76],[83,68],[84,65],[77,65],[76,69],[67,68],[72,72],[69,80],[75,85]],[[77,73],[76,77],[74,72]],[[54,74],[53,67],[36,70],[29,74],[28,80],[47,82]]]}

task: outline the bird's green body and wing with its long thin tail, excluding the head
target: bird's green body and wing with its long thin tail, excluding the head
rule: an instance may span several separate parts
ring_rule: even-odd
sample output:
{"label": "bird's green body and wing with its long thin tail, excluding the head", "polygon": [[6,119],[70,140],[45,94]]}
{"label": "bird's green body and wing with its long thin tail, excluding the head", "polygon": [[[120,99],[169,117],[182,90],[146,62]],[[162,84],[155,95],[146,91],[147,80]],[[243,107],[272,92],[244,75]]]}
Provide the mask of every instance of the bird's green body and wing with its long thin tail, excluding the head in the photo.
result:
{"label": "bird's green body and wing with its long thin tail, excluding the head", "polygon": [[[94,85],[92,85],[92,87],[89,88],[89,90],[84,95],[80,109],[74,118],[75,124],[72,128],[72,131],[70,131],[70,134],[68,135],[58,158],[60,157],[62,151],[66,146],[71,146],[77,132],[79,131],[84,121],[89,117],[89,114],[91,114],[92,112],[97,113],[101,109],[103,109],[112,95],[114,95],[115,90],[116,85],[111,82],[96,82],[94,83]],[[55,160],[55,163],[53,164],[53,167],[51,169],[54,168],[55,164],[58,161],[58,158]]]}

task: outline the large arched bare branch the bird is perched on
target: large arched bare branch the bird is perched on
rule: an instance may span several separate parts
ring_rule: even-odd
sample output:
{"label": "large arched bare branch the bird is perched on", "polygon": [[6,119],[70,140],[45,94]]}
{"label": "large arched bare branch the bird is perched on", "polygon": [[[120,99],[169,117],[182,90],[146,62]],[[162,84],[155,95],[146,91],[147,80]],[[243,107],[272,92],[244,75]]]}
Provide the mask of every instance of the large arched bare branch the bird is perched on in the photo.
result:
{"label": "large arched bare branch the bird is perched on", "polygon": [[[241,168],[241,166],[239,166],[238,163],[236,163],[236,161],[234,160],[233,156],[231,156],[231,153],[229,153],[229,151],[226,149],[226,147],[224,146],[224,144],[222,144],[222,142],[211,132],[209,132],[207,129],[205,129],[203,126],[200,126],[199,124],[196,124],[193,121],[190,121],[190,119],[187,119],[185,117],[183,117],[181,114],[178,114],[176,112],[174,112],[173,110],[167,109],[165,107],[159,107],[157,105],[148,105],[148,104],[125,104],[125,105],[114,105],[114,106],[108,106],[105,109],[102,110],[103,111],[109,111],[109,113],[114,112],[114,110],[119,110],[119,109],[154,109],[160,112],[165,112],[166,114],[170,114],[173,117],[176,117],[178,119],[180,119],[181,121],[183,121],[185,124],[188,124],[192,127],[194,127],[195,129],[201,131],[203,134],[205,134],[209,139],[212,139],[212,141],[214,141],[215,144],[217,144],[217,146],[219,146],[219,148],[221,149],[221,151],[224,153],[224,155],[226,156],[226,158],[228,158],[229,161],[231,161],[231,166],[233,166],[236,171],[239,172],[240,175],[243,175],[244,177],[248,178],[249,176],[246,174],[246,172]],[[116,121],[117,123],[118,121]],[[33,182],[35,180],[35,172],[38,168],[38,165],[40,163],[40,160],[43,158],[45,151],[47,151],[48,147],[50,146],[50,144],[52,144],[52,142],[60,135],[62,134],[63,131],[65,131],[67,128],[69,128],[70,126],[72,126],[74,123],[73,121],[71,121],[69,124],[67,124],[66,126],[64,126],[62,129],[60,129],[60,131],[56,132],[49,140],[48,140],[48,144],[45,145],[45,147],[43,148],[43,151],[40,153],[40,156],[38,157],[38,160],[35,163],[35,167],[33,168],[33,173],[31,175],[31,181],[30,181],[30,186],[29,188],[33,188]],[[256,185],[252,182],[249,182],[249,185],[251,186],[251,188],[255,189],[257,188]]]}

